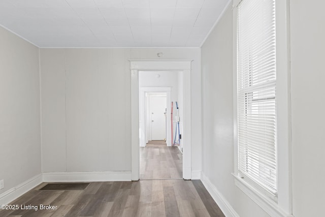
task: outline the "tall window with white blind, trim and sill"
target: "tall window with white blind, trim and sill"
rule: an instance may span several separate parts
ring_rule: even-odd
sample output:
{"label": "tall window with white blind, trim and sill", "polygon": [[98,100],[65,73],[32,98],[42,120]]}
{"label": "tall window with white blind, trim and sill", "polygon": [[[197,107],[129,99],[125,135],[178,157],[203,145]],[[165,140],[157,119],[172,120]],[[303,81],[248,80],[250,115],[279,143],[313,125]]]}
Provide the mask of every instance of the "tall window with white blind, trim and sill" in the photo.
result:
{"label": "tall window with white blind, trim and sill", "polygon": [[235,184],[270,216],[293,216],[289,0],[233,2]]}

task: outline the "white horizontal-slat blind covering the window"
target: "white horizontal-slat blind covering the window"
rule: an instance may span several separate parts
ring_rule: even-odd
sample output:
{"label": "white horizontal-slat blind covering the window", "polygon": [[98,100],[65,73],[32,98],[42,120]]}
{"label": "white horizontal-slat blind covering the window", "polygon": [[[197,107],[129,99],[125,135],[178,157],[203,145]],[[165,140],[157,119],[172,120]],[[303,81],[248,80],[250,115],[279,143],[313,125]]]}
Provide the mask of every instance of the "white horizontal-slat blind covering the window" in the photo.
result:
{"label": "white horizontal-slat blind covering the window", "polygon": [[243,0],[237,14],[238,171],[277,197],[275,1]]}

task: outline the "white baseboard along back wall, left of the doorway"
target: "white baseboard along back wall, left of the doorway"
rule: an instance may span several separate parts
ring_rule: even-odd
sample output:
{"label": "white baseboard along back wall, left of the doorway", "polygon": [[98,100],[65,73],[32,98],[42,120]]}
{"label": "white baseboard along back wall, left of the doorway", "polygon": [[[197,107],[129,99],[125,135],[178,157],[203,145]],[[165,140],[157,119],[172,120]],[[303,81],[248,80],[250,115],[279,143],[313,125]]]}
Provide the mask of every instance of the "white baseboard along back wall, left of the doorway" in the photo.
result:
{"label": "white baseboard along back wall, left of the doorway", "polygon": [[131,181],[131,171],[45,172],[43,173],[43,181]]}

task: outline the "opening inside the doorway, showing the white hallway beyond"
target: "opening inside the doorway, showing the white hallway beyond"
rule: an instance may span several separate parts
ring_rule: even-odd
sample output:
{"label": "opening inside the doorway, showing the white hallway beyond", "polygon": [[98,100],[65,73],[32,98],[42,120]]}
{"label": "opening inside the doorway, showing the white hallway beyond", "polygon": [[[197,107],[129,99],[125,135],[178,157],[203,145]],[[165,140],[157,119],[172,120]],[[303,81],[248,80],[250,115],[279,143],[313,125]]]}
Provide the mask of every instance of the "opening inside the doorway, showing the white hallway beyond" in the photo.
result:
{"label": "opening inside the doorway, showing the white hallway beyond", "polygon": [[176,102],[183,107],[182,81],[182,71],[139,71],[140,179],[183,177],[180,130],[175,137],[183,123],[182,112],[181,121],[175,118]]}

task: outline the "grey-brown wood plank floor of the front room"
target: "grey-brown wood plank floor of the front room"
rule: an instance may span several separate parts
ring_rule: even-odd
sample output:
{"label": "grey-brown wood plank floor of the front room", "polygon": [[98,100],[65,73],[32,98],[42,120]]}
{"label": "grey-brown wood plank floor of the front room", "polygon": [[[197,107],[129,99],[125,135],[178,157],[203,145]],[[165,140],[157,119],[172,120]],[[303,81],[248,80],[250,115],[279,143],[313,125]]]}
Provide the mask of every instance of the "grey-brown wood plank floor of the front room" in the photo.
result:
{"label": "grey-brown wood plank floor of the front room", "polygon": [[39,191],[12,204],[56,206],[54,210],[1,210],[0,216],[224,216],[200,180],[91,182],[85,190]]}

